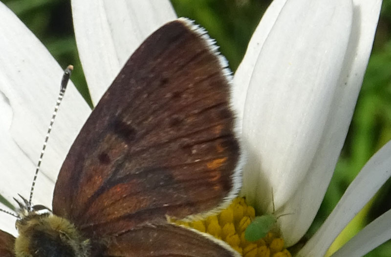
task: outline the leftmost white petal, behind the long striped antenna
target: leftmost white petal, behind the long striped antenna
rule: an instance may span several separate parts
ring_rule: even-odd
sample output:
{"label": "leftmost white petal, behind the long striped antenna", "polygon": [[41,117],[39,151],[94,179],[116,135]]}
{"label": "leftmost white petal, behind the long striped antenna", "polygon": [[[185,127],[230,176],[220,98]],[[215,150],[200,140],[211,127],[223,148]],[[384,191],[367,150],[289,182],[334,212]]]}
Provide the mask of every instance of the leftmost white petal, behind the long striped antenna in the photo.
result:
{"label": "leftmost white petal, behind the long striped antenna", "polygon": [[[29,196],[63,69],[2,3],[0,17],[0,193],[14,203],[17,193]],[[89,113],[70,83],[43,157],[34,203],[51,207],[57,173]],[[0,215],[0,229],[15,233],[15,218]]]}

